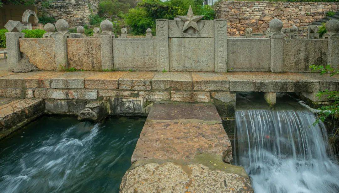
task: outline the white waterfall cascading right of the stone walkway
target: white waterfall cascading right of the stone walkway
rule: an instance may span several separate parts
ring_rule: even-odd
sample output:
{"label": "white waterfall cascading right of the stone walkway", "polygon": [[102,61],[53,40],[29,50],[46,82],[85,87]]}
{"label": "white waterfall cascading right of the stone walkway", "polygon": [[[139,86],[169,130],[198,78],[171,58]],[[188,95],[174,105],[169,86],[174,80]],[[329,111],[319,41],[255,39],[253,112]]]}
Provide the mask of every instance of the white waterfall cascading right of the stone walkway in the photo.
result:
{"label": "white waterfall cascading right of the stone walkway", "polygon": [[258,193],[339,192],[339,166],[323,123],[307,110],[236,111],[235,164]]}

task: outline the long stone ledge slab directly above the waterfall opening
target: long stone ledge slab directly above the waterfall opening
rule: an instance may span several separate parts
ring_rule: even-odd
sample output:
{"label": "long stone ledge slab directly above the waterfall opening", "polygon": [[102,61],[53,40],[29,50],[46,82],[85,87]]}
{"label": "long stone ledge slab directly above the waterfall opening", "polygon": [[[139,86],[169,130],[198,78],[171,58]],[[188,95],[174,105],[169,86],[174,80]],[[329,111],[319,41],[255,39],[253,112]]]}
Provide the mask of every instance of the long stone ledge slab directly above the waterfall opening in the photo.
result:
{"label": "long stone ledge slab directly above the waterfall opening", "polygon": [[301,73],[228,72],[230,91],[318,92],[319,80]]}

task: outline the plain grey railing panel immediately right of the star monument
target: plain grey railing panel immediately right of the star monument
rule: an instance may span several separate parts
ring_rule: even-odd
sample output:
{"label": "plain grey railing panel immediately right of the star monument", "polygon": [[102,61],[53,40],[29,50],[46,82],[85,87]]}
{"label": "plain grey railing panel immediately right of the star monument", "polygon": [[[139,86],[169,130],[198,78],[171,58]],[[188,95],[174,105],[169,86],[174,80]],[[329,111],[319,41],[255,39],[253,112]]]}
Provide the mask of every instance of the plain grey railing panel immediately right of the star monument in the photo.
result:
{"label": "plain grey railing panel immediately right of the star monument", "polygon": [[270,69],[270,39],[227,39],[227,71],[270,72]]}

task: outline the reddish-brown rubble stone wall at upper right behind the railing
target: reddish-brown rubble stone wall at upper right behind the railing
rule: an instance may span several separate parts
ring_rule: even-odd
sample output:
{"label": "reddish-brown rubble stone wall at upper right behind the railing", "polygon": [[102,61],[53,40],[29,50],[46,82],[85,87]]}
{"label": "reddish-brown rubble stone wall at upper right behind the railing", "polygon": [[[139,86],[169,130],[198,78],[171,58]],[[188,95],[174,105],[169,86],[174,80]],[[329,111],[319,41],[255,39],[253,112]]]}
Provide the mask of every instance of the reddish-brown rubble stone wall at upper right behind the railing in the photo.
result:
{"label": "reddish-brown rubble stone wall at upper right behind the railing", "polygon": [[246,27],[254,33],[266,31],[274,18],[280,19],[284,28],[307,26],[328,11],[338,11],[338,5],[339,2],[220,1],[215,10],[218,19],[227,19],[229,36],[244,36]]}

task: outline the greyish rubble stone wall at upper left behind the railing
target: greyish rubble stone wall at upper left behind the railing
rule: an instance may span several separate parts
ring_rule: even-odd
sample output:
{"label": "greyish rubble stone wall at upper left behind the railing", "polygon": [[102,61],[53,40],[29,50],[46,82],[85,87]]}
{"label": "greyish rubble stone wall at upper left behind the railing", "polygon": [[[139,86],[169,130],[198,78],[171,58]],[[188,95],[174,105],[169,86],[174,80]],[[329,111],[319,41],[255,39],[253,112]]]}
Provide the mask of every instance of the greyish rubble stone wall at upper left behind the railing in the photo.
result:
{"label": "greyish rubble stone wall at upper left behind the railing", "polygon": [[70,27],[89,24],[88,16],[98,13],[100,0],[55,0],[48,8],[42,7],[41,2],[36,0],[38,14],[46,14],[56,20],[65,19]]}

